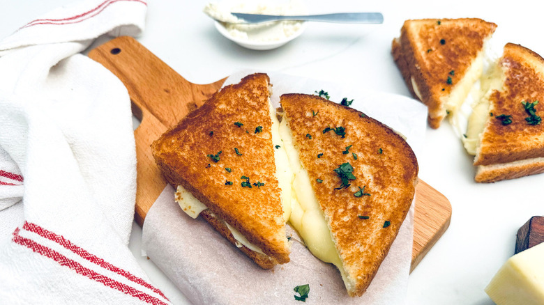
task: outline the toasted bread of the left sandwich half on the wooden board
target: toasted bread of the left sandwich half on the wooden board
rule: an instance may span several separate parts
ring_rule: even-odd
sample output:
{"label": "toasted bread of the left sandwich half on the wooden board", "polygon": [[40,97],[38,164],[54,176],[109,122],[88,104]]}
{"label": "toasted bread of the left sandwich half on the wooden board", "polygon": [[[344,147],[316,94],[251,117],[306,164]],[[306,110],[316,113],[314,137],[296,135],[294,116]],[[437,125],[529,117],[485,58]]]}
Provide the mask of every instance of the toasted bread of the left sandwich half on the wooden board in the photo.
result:
{"label": "toasted bread of the left sandwich half on the wooden board", "polygon": [[[269,77],[255,74],[222,88],[151,146],[167,181],[204,203],[204,219],[263,268],[289,262],[271,126]],[[262,253],[242,246],[229,226]]]}

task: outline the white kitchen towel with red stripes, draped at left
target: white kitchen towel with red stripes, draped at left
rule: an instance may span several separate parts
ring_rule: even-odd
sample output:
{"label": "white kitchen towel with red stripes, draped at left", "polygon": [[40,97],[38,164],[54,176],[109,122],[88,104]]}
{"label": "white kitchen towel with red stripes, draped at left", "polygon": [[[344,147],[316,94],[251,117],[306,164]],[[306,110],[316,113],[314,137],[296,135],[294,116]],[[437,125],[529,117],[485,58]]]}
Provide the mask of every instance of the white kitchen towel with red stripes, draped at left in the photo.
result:
{"label": "white kitchen towel with red stripes, draped at left", "polygon": [[0,42],[0,303],[168,304],[127,244],[136,157],[121,81],[80,54],[146,3],[84,1]]}

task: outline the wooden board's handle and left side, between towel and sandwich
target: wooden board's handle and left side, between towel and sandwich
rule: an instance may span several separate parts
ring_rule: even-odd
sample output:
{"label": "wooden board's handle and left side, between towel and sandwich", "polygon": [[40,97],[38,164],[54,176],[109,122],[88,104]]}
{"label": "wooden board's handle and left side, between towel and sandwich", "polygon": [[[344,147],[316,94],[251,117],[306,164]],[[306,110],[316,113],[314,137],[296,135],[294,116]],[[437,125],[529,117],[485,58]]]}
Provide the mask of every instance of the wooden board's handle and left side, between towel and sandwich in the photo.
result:
{"label": "wooden board's handle and left side, between towel and sandwich", "polygon": [[89,57],[123,82],[130,95],[133,114],[141,121],[134,136],[137,157],[135,219],[142,225],[151,205],[166,186],[151,155],[151,143],[216,93],[225,79],[213,84],[192,84],[128,36],[92,49]]}

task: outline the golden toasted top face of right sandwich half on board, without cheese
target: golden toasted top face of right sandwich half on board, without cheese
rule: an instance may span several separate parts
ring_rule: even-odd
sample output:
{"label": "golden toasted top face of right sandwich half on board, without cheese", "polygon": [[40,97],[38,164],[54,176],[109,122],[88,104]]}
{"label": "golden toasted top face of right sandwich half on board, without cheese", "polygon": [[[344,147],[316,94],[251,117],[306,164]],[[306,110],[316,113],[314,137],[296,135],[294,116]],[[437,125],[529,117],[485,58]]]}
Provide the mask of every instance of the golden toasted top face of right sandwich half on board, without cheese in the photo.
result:
{"label": "golden toasted top face of right sandwich half on board, without cheese", "polygon": [[[349,107],[302,94],[282,95],[280,102],[347,278],[354,283],[348,293],[362,295],[414,198],[416,156],[393,130]],[[326,127],[345,127],[345,137],[334,130],[324,133]],[[347,146],[349,153],[342,153]],[[320,153],[324,155],[318,158]],[[349,180],[346,189],[335,189],[342,182],[334,170],[346,162],[353,166],[356,180]],[[358,187],[370,196],[354,196]],[[390,225],[384,228],[386,221]]]}

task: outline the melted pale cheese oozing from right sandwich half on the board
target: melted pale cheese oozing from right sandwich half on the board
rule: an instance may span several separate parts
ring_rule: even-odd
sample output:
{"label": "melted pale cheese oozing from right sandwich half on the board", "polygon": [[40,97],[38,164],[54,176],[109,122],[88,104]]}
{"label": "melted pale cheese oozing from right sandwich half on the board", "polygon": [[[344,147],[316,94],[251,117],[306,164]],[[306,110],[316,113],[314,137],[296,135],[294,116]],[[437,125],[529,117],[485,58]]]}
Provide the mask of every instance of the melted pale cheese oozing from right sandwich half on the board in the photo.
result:
{"label": "melted pale cheese oozing from right sandwich half on the board", "polygon": [[338,267],[343,278],[345,271],[338,250],[334,245],[331,229],[328,228],[325,216],[319,207],[308,171],[301,164],[299,152],[294,146],[292,132],[286,118],[280,123],[280,135],[293,172],[292,212],[289,222],[301,235],[310,252],[320,260]]}

